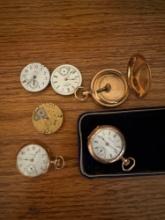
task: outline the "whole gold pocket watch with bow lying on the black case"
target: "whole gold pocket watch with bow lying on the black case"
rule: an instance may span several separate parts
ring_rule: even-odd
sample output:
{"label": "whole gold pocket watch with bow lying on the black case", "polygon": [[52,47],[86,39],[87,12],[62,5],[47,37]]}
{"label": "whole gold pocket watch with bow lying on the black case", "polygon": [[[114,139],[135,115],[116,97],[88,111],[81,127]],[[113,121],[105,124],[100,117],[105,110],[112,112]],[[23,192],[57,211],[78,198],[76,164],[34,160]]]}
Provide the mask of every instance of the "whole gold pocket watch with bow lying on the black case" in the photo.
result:
{"label": "whole gold pocket watch with bow lying on the black case", "polygon": [[96,127],[88,136],[88,150],[97,161],[110,164],[122,161],[122,170],[131,171],[135,166],[133,157],[125,158],[126,142],[121,131],[111,125]]}

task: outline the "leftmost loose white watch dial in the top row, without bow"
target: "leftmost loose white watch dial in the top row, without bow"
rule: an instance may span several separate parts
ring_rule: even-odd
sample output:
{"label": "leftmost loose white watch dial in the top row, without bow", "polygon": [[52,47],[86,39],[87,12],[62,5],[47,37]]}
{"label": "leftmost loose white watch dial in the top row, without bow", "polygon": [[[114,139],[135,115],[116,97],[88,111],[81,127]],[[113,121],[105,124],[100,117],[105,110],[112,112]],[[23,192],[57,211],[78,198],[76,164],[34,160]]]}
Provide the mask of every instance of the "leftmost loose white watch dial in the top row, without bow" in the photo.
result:
{"label": "leftmost loose white watch dial in the top row, without bow", "polygon": [[21,85],[29,92],[39,92],[50,82],[49,70],[40,63],[31,63],[23,68],[20,75]]}

